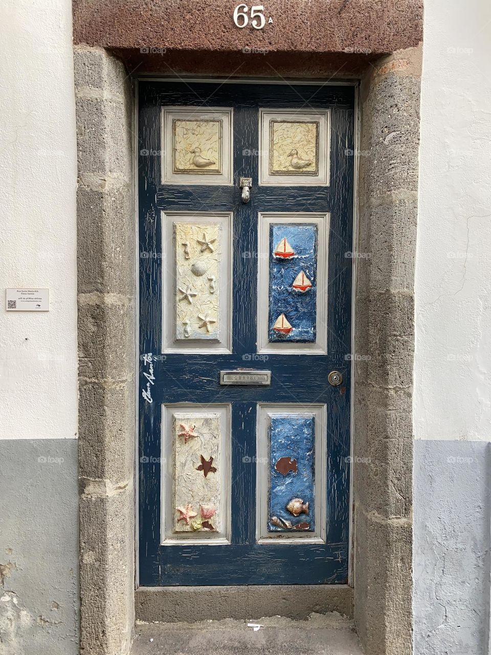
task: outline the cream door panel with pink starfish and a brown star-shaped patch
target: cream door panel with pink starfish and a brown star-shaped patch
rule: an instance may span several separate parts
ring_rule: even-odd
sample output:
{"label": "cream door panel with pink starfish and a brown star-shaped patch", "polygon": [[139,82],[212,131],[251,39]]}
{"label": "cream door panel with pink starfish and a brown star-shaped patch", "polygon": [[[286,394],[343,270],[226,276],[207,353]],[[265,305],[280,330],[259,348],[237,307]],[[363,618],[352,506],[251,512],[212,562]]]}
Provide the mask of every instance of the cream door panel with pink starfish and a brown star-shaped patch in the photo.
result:
{"label": "cream door panel with pink starfish and a brown star-shaped patch", "polygon": [[173,533],[220,532],[218,413],[173,414]]}

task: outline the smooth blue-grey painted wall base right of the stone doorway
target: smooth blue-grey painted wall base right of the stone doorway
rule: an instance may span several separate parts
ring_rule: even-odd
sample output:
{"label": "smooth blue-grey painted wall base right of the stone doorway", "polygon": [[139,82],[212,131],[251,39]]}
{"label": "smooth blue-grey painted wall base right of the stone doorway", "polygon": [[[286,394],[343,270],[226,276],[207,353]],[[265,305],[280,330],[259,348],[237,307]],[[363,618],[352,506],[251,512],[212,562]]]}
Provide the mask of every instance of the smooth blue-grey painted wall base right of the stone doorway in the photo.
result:
{"label": "smooth blue-grey painted wall base right of the stone doorway", "polygon": [[414,442],[414,655],[488,653],[490,453]]}

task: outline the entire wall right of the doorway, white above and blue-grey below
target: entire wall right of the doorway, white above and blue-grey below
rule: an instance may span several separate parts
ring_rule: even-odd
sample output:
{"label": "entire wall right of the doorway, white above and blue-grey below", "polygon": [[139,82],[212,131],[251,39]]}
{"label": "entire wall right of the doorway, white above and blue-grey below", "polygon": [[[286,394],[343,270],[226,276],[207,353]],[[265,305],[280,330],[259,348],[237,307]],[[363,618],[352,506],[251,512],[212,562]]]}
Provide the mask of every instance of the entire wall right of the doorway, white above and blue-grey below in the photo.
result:
{"label": "entire wall right of the doorway, white above and blue-grey below", "polygon": [[488,651],[491,5],[425,6],[414,358],[414,653]]}

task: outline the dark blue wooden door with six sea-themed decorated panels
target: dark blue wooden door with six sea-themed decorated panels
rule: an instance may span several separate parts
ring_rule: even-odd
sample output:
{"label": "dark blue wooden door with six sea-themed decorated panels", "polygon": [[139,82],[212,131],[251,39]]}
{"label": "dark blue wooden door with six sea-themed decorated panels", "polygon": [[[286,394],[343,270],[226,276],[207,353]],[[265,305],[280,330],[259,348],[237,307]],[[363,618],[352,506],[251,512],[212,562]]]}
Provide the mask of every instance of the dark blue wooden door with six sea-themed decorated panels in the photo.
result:
{"label": "dark blue wooden door with six sea-themed decorated panels", "polygon": [[138,102],[140,584],[344,583],[354,87]]}

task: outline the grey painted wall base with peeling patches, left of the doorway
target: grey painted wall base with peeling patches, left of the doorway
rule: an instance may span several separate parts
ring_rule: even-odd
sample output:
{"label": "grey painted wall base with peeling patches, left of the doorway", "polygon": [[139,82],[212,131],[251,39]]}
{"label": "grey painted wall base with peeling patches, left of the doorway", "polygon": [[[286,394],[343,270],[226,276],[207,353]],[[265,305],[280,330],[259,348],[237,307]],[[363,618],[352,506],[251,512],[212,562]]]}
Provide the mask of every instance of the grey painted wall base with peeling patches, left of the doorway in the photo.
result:
{"label": "grey painted wall base with peeling patches, left of the doorway", "polygon": [[0,440],[0,653],[79,652],[75,439]]}

